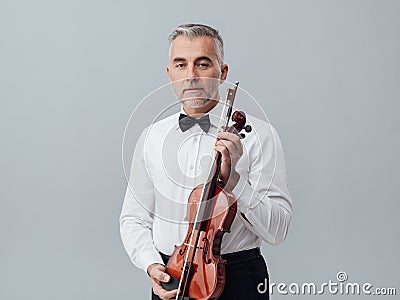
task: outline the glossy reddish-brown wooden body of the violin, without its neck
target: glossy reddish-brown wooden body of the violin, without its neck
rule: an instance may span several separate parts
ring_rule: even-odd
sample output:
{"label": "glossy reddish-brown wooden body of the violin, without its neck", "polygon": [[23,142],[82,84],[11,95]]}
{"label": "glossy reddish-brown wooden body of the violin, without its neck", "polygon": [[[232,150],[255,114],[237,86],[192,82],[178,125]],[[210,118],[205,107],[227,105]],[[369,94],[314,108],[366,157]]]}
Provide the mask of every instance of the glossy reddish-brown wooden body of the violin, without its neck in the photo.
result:
{"label": "glossy reddish-brown wooden body of the violin, without its neck", "polygon": [[[213,211],[212,217],[200,220],[196,226],[193,220],[196,219],[196,213],[202,211],[198,206],[205,205],[200,201],[202,190],[203,185],[200,185],[190,194],[187,215],[189,230],[182,245],[175,246],[167,264],[167,273],[175,279],[186,277],[185,281],[190,282],[187,287],[181,287],[185,297],[217,299],[225,285],[226,261],[220,256],[221,241],[224,233],[230,231],[237,204],[229,191],[217,186],[216,195],[208,200]],[[198,238],[197,247],[190,246],[193,238]],[[190,266],[185,265],[187,257],[190,258]],[[182,274],[186,268],[189,271]]]}

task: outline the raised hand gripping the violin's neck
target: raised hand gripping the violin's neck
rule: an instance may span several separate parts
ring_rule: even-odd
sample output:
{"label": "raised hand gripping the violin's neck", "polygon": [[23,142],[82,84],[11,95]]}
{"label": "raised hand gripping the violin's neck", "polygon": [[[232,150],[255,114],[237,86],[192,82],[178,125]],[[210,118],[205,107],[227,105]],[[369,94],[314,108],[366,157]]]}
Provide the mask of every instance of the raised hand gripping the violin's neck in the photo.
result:
{"label": "raised hand gripping the violin's neck", "polygon": [[235,167],[243,154],[243,147],[237,134],[219,132],[215,150],[221,153],[221,172],[219,178],[228,190],[232,190],[239,181],[240,175]]}

